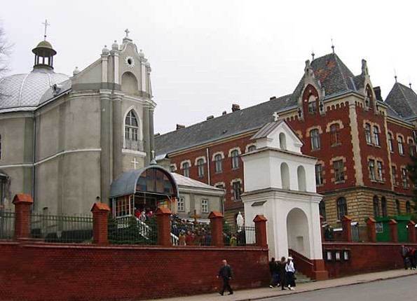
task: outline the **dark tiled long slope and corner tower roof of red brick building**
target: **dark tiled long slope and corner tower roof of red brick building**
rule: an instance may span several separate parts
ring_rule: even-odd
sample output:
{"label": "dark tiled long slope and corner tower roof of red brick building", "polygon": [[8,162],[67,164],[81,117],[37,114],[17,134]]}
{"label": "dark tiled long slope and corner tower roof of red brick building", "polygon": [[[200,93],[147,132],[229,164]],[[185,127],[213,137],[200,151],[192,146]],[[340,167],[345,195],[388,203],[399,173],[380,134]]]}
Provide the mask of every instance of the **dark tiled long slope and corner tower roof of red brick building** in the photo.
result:
{"label": "dark tiled long slope and corner tower roof of red brick building", "polygon": [[[319,80],[324,88],[326,97],[349,91],[357,92],[363,85],[363,76],[354,76],[334,53],[317,57],[311,62],[311,67],[316,80]],[[172,153],[238,133],[260,129],[266,123],[273,121],[273,112],[285,111],[289,107],[296,106],[303,86],[304,76],[292,94],[155,137],[156,153],[158,155]]]}

